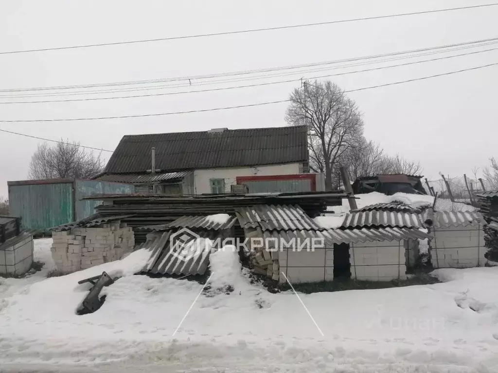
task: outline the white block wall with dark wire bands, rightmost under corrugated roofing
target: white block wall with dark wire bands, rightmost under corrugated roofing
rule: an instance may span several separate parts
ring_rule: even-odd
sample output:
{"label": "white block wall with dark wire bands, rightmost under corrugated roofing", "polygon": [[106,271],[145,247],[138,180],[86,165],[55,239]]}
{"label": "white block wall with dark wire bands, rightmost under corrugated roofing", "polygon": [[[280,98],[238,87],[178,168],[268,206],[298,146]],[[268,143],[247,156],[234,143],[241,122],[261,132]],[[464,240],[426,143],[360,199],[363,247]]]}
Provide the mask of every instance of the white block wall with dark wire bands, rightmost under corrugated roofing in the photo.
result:
{"label": "white block wall with dark wire bands, rightmost under corrugated roofing", "polygon": [[431,262],[435,268],[484,266],[484,231],[481,226],[435,228],[431,240]]}

